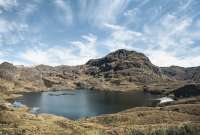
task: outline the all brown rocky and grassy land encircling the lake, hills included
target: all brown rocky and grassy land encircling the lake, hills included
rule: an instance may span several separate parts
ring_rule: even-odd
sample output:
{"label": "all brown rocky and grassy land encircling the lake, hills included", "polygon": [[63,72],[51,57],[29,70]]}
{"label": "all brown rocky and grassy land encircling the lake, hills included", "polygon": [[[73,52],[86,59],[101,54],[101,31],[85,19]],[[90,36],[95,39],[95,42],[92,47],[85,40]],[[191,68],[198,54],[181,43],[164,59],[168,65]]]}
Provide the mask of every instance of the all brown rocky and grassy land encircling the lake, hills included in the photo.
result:
{"label": "all brown rocky and grassy land encircling the lake, hills included", "polygon": [[[199,67],[158,67],[142,53],[120,49],[80,66],[0,64],[0,135],[199,135]],[[146,91],[175,99],[80,120],[29,113],[8,101],[20,92],[86,88]]]}

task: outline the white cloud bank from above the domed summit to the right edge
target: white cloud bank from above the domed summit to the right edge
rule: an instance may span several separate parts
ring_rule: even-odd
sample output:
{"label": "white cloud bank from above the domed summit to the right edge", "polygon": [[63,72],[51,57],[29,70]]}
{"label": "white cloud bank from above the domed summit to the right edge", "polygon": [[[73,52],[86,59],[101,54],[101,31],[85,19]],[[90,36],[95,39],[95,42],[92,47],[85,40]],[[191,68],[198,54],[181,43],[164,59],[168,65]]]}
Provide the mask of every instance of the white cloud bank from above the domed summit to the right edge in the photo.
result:
{"label": "white cloud bank from above the domed summit to the right edge", "polygon": [[[126,48],[142,51],[158,66],[198,66],[200,63],[200,31],[191,17],[176,17],[167,14],[151,25],[144,25],[143,31],[136,32],[126,26],[105,24],[111,30],[103,41],[110,51]],[[196,47],[194,47],[196,46]]]}

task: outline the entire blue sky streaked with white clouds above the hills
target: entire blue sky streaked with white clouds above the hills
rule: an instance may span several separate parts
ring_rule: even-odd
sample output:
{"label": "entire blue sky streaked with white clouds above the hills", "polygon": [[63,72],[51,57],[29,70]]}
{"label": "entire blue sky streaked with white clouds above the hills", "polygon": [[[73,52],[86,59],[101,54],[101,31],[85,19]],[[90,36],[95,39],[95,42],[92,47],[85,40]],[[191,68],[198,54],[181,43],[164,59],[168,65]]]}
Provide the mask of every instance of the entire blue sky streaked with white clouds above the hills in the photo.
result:
{"label": "entire blue sky streaked with white clouds above the hills", "polygon": [[0,0],[0,62],[80,65],[117,49],[200,66],[200,0]]}

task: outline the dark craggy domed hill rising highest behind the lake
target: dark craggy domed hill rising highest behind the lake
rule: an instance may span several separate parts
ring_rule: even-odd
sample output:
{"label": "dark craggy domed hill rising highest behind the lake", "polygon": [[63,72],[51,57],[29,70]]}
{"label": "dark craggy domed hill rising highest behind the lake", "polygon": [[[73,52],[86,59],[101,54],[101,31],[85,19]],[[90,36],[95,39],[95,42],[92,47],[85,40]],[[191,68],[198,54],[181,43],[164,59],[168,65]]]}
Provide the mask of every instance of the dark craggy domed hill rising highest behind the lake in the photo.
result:
{"label": "dark craggy domed hill rising highest behind the lake", "polygon": [[162,79],[159,67],[153,65],[142,53],[117,50],[100,59],[86,63],[86,74],[104,78],[130,77],[130,81],[142,83]]}

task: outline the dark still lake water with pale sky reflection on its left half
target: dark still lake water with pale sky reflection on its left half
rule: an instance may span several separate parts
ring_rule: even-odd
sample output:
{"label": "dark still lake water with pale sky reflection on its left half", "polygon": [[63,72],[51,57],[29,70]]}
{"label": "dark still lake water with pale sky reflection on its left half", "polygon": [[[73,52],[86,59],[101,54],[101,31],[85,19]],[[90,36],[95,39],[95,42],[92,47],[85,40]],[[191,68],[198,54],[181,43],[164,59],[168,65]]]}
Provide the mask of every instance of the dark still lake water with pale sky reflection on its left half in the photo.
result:
{"label": "dark still lake water with pale sky reflection on its left half", "polygon": [[15,100],[39,113],[49,113],[71,119],[115,113],[139,106],[155,106],[158,96],[144,92],[110,92],[92,90],[25,93]]}

